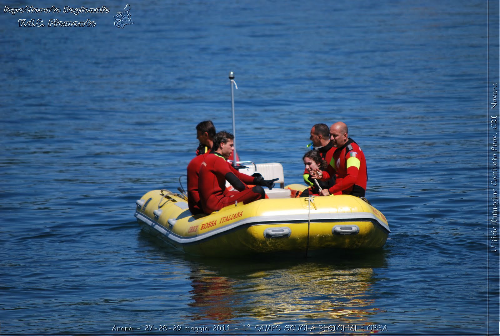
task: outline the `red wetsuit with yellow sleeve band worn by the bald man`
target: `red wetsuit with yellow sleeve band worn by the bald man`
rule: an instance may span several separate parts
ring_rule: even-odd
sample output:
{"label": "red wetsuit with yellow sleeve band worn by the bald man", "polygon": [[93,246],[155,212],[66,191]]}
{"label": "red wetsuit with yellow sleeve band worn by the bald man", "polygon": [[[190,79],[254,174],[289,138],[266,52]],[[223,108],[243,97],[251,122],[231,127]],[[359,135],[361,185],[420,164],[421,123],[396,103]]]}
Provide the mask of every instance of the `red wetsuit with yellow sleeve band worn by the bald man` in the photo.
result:
{"label": "red wetsuit with yellow sleeve band worn by the bald man", "polygon": [[361,148],[349,138],[340,148],[336,148],[333,157],[323,174],[323,180],[336,175],[335,184],[328,188],[331,195],[349,194],[363,197],[366,190],[366,160]]}

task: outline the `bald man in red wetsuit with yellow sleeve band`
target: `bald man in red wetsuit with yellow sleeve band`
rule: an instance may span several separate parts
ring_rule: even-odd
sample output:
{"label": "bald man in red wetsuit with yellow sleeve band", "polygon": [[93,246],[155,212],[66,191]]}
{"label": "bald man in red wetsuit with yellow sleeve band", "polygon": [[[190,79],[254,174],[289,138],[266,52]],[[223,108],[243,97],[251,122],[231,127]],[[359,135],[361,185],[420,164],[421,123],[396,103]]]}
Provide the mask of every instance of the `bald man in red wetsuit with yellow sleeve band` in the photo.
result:
{"label": "bald man in red wetsuit with yellow sleeve band", "polygon": [[319,194],[327,196],[342,193],[364,197],[367,180],[366,160],[361,148],[348,137],[347,125],[342,122],[331,125],[330,141],[336,147],[333,156],[326,172],[316,177],[324,180],[335,174],[336,180],[332,187],[321,190]]}

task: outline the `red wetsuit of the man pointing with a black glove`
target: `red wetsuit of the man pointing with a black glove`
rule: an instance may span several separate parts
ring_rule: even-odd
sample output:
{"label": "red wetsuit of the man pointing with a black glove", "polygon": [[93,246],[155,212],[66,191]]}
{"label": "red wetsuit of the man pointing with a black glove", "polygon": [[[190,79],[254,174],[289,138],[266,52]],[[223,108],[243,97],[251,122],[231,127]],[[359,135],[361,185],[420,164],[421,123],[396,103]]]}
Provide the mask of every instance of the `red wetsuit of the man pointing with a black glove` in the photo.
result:
{"label": "red wetsuit of the man pointing with a black glove", "polygon": [[254,191],[254,188],[248,188],[243,183],[234,185],[231,182],[234,188],[241,191],[227,191],[225,188],[226,177],[231,176],[236,176],[239,183],[252,184],[254,180],[253,176],[239,173],[218,153],[209,153],[205,157],[201,163],[198,177],[199,198],[204,213],[210,214],[224,206],[234,204],[235,201],[246,204],[262,197],[261,194]]}

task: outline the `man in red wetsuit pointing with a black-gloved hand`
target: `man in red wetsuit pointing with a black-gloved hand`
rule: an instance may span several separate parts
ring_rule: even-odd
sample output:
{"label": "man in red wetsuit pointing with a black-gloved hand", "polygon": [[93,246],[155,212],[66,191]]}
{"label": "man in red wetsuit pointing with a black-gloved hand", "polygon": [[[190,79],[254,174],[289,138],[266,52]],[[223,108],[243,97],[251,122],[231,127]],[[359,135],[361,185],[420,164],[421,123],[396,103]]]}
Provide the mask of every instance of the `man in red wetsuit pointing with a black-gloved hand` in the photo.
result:
{"label": "man in red wetsuit pointing with a black-gloved hand", "polygon": [[[212,151],[201,163],[198,176],[198,191],[201,209],[210,214],[224,206],[242,202],[243,204],[265,198],[264,189],[274,187],[273,180],[253,177],[239,173],[226,160],[234,147],[234,136],[228,132],[219,132],[213,138]],[[225,181],[228,181],[235,191],[227,191]],[[246,184],[255,185],[248,188]]]}

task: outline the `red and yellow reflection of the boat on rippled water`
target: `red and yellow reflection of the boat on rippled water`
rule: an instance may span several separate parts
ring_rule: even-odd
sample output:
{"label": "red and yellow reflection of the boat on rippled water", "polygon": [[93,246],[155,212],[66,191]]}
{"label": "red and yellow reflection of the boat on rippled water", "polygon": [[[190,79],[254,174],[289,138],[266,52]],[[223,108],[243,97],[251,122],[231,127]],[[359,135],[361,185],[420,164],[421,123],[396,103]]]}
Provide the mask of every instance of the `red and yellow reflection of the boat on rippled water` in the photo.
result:
{"label": "red and yellow reflection of the boat on rippled water", "polygon": [[[349,252],[351,253],[351,252]],[[373,319],[384,252],[286,260],[191,260],[190,320]]]}

